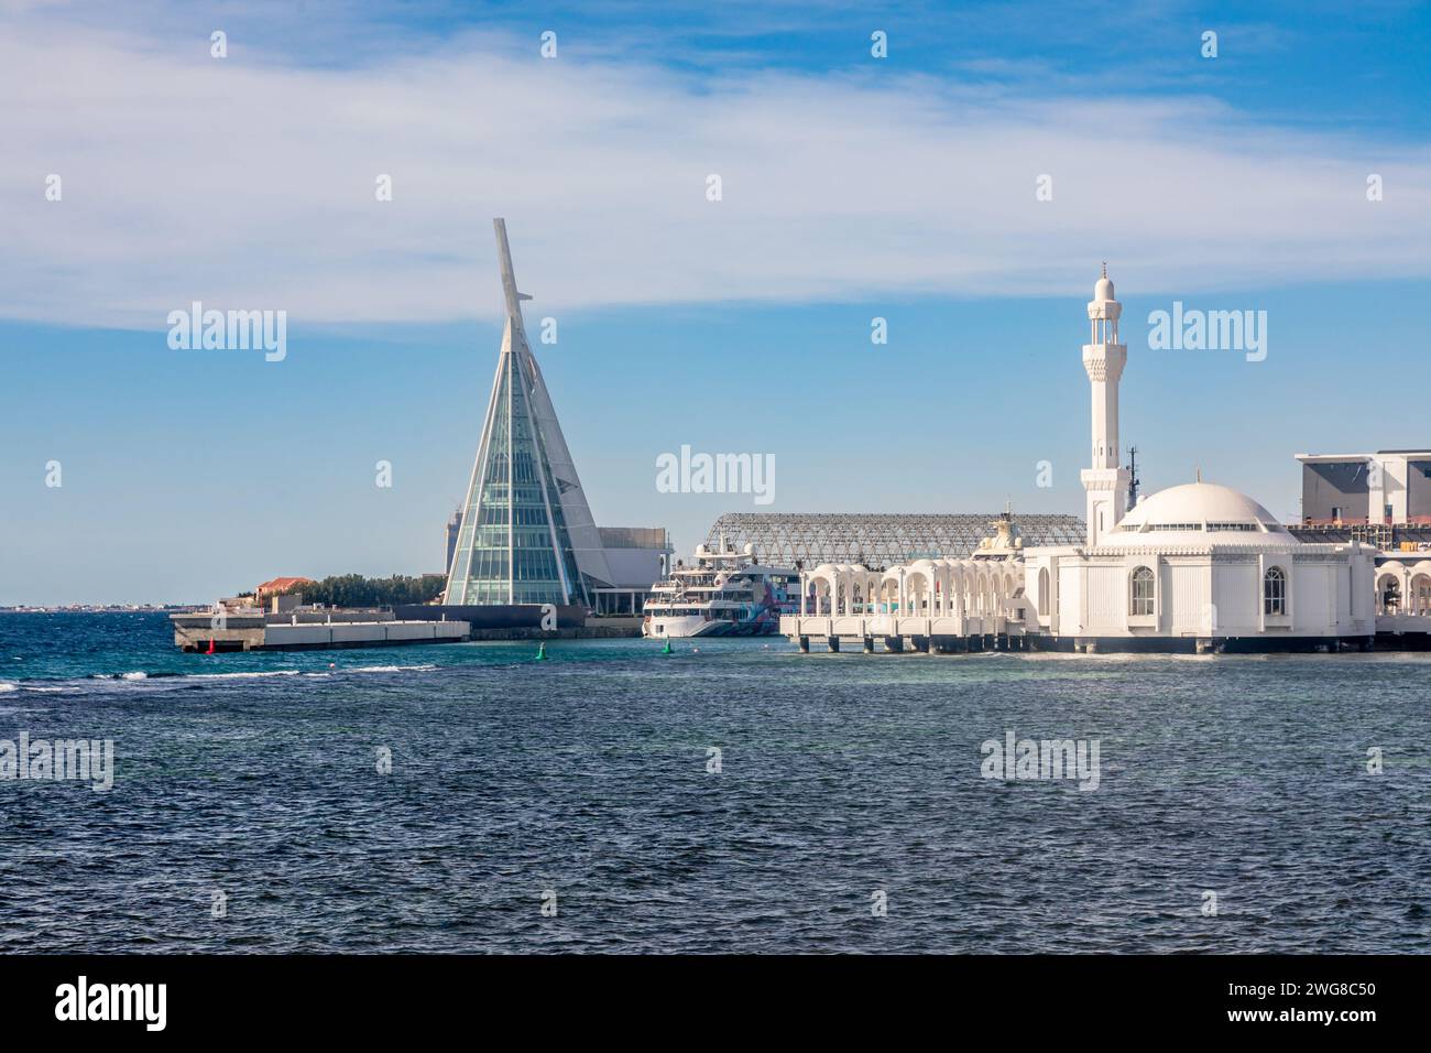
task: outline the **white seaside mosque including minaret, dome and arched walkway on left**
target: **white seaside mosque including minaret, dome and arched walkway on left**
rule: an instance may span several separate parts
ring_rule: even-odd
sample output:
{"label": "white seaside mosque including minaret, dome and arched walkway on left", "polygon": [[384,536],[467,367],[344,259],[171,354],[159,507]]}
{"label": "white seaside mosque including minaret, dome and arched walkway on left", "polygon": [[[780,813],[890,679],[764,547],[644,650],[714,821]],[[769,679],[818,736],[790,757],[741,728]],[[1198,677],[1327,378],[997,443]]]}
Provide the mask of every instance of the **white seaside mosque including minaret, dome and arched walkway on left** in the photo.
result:
{"label": "white seaside mosque including minaret, dome and arched walkway on left", "polygon": [[1377,549],[1304,543],[1225,486],[1175,486],[1129,510],[1119,466],[1118,385],[1128,361],[1122,305],[1105,269],[1088,305],[1083,368],[1092,387],[1092,464],[1083,544],[1023,547],[1012,523],[970,559],[923,559],[883,572],[804,573],[800,616],[781,630],[883,638],[887,649],[1324,650],[1369,648]]}

